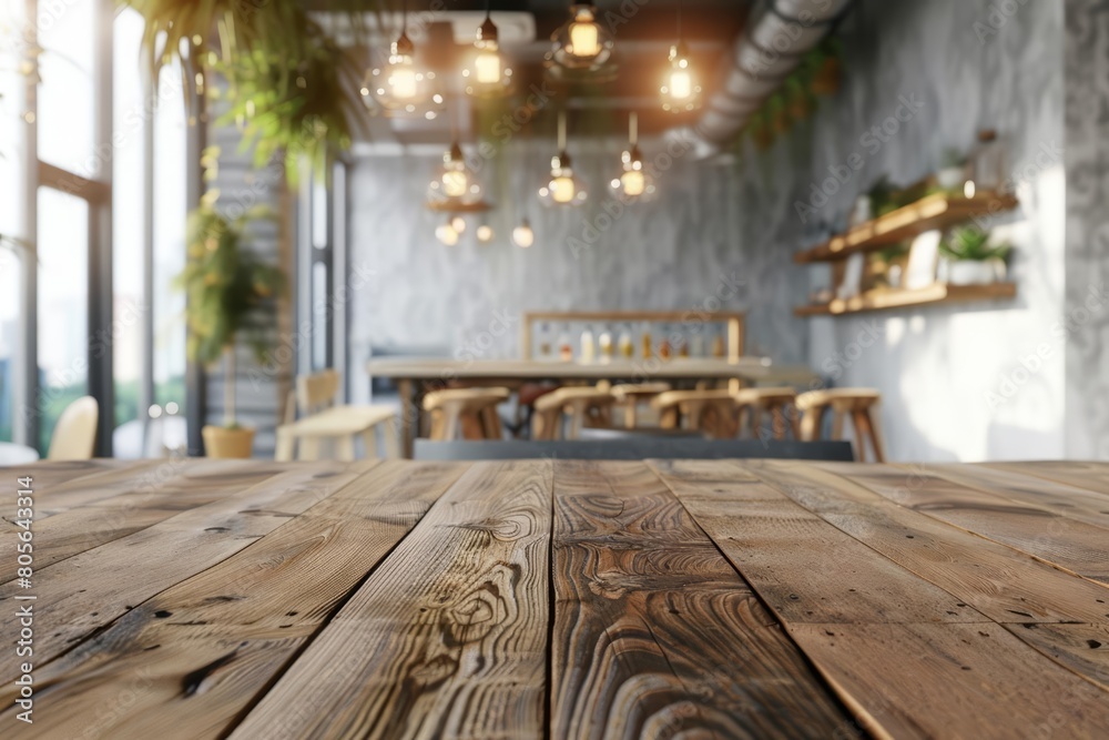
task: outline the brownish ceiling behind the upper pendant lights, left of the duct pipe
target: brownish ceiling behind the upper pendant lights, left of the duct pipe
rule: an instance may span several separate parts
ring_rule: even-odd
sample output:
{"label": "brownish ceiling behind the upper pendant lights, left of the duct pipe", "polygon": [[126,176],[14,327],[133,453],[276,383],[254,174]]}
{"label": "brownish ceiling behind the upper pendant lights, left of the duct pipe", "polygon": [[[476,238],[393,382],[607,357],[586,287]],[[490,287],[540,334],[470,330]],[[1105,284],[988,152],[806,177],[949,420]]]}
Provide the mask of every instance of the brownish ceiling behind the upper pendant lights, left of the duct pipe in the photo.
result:
{"label": "brownish ceiling behind the upper pendant lights, left of the duct pipe", "polygon": [[[326,6],[328,3],[322,2]],[[335,3],[330,3],[334,7]],[[548,131],[554,113],[567,108],[570,129],[576,136],[623,133],[628,112],[637,111],[641,135],[651,136],[689,123],[690,115],[675,115],[659,104],[659,85],[667,69],[667,54],[678,34],[681,6],[682,38],[690,48],[691,61],[699,70],[706,92],[713,89],[716,70],[725,67],[721,55],[740,34],[753,0],[600,0],[598,20],[608,26],[615,40],[617,78],[601,84],[545,83],[543,54],[550,37],[569,18],[566,0],[526,0],[491,2],[494,21],[501,29],[501,45],[510,58],[518,107],[533,89],[554,90],[551,102],[530,110],[526,128]],[[372,29],[370,49],[359,50],[368,60],[387,49],[400,27],[403,3],[378,2],[364,17]],[[484,0],[408,0],[409,34],[424,63],[440,69],[457,69],[467,51],[472,29],[484,20]],[[349,31],[349,20],[339,13],[321,13],[321,20],[338,38]],[[344,27],[347,27],[346,29]],[[414,28],[415,27],[415,28]],[[376,32],[373,30],[376,29]],[[349,40],[354,45],[353,37]],[[365,39],[363,39],[365,43]],[[454,75],[451,75],[454,77]],[[472,138],[482,103],[472,104],[465,95],[451,97],[451,114],[434,121],[379,119],[370,122],[368,139],[393,145],[441,144],[450,135],[451,120],[465,140]],[[577,120],[577,121],[576,121]]]}

